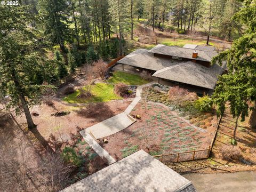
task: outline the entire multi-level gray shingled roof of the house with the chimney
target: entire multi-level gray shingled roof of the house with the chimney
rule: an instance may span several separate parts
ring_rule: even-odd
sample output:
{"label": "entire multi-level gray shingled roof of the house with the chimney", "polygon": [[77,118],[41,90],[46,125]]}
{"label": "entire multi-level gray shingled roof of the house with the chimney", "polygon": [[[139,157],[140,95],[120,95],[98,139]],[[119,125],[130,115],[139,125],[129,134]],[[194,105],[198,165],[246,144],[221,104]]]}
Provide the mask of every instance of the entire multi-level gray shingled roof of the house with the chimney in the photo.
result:
{"label": "entire multi-level gray shingled roof of the house with the chimney", "polygon": [[[154,56],[154,52],[161,52],[162,54],[167,54],[168,52],[172,53],[175,57],[182,56],[189,58],[192,56],[193,51],[193,49],[182,47],[170,48],[170,46],[159,44],[150,51],[146,49],[138,49],[129,55],[126,55],[126,57],[119,60],[117,63],[156,71],[155,74],[153,74],[154,77],[204,87],[207,89],[214,89],[218,75],[221,75],[226,67],[225,62],[223,62],[222,66],[214,64],[210,67],[204,67],[203,65],[192,61],[157,57],[157,55]],[[213,51],[197,51],[197,59],[201,59],[199,57],[199,55],[201,55],[201,57],[203,56],[205,58],[204,60],[207,61],[210,61],[213,55],[217,54],[217,52]],[[190,59],[191,58],[192,57],[190,57]]]}

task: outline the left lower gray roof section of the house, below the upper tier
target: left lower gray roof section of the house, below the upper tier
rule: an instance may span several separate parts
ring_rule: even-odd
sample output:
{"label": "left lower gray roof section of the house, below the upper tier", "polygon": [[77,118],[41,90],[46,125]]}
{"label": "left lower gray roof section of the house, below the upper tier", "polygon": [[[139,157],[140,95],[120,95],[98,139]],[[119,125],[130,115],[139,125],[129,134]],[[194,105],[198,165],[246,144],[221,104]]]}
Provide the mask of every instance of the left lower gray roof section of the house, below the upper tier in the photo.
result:
{"label": "left lower gray roof section of the house, below the upper tier", "polygon": [[154,54],[148,52],[148,50],[146,49],[138,49],[136,51],[133,51],[129,55],[126,55],[123,59],[117,61],[117,63],[155,71],[175,65],[180,62],[182,61],[154,57]]}

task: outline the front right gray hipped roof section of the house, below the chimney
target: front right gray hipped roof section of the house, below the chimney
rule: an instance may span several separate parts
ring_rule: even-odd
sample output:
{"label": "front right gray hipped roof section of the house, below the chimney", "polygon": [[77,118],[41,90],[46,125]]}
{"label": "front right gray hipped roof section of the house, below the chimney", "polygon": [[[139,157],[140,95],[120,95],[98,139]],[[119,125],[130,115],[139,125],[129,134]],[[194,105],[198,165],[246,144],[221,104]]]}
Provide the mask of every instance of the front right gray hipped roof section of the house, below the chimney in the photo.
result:
{"label": "front right gray hipped roof section of the house, below the chimney", "polygon": [[208,68],[192,61],[185,61],[179,65],[158,70],[153,76],[207,89],[214,89],[217,77],[222,74],[222,71],[223,68],[217,64]]}

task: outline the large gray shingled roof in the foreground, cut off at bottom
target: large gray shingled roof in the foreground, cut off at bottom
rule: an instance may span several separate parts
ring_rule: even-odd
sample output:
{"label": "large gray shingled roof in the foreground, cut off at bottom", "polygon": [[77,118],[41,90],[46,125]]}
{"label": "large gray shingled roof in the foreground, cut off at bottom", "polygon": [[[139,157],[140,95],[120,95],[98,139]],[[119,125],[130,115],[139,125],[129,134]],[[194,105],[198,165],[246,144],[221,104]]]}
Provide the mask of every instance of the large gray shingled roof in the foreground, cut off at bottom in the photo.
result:
{"label": "large gray shingled roof in the foreground, cut off at bottom", "polygon": [[75,191],[196,191],[192,183],[145,151],[123,158],[63,189]]}

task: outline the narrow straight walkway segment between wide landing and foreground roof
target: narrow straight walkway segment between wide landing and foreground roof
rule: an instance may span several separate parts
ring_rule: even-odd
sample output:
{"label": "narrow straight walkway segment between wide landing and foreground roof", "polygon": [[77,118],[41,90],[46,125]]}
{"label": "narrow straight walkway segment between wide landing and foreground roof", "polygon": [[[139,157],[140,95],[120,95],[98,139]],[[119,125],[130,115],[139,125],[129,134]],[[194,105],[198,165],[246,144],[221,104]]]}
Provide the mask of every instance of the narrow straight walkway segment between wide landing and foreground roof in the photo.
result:
{"label": "narrow straight walkway segment between wide landing and foreground roof", "polygon": [[85,130],[80,131],[80,134],[83,136],[84,140],[88,143],[88,145],[100,156],[105,157],[108,160],[108,164],[115,163],[116,160],[111,157],[108,152],[103,149],[97,141],[95,141],[89,133],[86,133]]}

